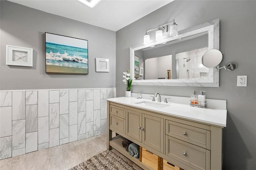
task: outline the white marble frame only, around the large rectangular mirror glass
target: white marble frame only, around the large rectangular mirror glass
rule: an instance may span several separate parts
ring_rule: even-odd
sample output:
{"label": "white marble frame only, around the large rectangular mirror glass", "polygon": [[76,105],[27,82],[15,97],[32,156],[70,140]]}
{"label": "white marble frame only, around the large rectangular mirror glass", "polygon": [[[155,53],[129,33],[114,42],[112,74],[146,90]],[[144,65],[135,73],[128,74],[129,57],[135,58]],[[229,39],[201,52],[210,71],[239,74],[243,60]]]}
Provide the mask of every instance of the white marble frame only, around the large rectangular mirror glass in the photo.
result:
{"label": "white marble frame only, around the large rectangular mirror glass", "polygon": [[134,51],[157,45],[164,42],[186,39],[188,37],[208,33],[208,49],[219,49],[220,46],[220,20],[212,20],[192,28],[181,30],[178,36],[165,36],[161,42],[150,41],[149,45],[143,43],[130,47],[130,73],[133,79],[132,85],[153,85],[153,86],[192,86],[192,87],[219,87],[219,70],[209,68],[209,79],[156,79],[136,80],[134,78]]}

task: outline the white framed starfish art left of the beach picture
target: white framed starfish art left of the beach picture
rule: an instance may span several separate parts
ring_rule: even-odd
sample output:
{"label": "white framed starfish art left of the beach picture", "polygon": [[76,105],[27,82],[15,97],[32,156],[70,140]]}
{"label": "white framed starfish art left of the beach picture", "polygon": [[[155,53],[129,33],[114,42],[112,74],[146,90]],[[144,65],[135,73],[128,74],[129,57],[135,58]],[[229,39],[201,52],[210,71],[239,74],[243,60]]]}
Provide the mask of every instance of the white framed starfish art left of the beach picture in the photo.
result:
{"label": "white framed starfish art left of the beach picture", "polygon": [[6,45],[6,65],[33,67],[33,49]]}

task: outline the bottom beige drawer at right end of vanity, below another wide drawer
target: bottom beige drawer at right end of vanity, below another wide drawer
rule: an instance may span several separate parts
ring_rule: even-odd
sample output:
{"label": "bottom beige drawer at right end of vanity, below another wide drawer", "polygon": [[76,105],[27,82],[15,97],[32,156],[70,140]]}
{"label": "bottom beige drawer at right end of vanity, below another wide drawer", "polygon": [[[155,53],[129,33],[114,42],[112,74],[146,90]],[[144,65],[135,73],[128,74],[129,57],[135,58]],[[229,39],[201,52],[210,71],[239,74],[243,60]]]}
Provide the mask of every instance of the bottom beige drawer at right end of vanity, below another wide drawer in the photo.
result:
{"label": "bottom beige drawer at right end of vanity, below another wide drawer", "polygon": [[210,169],[210,150],[167,135],[166,155],[193,169]]}

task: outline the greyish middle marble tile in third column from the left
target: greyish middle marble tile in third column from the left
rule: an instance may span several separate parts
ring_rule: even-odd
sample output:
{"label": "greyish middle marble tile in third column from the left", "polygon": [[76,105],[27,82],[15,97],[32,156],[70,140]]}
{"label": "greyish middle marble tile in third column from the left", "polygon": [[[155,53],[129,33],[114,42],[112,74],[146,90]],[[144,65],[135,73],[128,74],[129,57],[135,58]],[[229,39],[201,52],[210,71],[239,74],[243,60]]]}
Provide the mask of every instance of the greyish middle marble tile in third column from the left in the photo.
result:
{"label": "greyish middle marble tile in third column from the left", "polygon": [[26,133],[38,130],[37,105],[26,105]]}

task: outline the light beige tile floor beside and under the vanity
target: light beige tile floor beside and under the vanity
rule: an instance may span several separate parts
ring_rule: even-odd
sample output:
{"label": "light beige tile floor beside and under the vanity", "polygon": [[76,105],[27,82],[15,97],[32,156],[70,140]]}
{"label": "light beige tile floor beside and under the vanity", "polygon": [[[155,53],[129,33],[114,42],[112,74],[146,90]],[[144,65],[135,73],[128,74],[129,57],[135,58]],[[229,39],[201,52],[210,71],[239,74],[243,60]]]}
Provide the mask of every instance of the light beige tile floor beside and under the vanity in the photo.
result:
{"label": "light beige tile floor beside and under the vanity", "polygon": [[[106,134],[0,160],[0,170],[67,170],[106,150]],[[134,168],[133,162],[113,150]]]}

